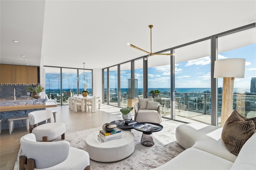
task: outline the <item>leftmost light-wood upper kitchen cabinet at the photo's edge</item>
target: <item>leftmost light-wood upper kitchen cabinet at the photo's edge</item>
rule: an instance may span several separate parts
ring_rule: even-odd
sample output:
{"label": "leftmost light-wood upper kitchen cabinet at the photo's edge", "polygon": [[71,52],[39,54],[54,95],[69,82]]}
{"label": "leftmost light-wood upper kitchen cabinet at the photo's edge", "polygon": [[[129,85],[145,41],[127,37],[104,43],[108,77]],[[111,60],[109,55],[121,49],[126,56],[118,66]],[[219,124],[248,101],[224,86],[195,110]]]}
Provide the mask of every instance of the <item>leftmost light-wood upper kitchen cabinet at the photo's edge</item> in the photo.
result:
{"label": "leftmost light-wood upper kitchen cabinet at the photo's edge", "polygon": [[15,65],[0,65],[0,83],[15,83]]}

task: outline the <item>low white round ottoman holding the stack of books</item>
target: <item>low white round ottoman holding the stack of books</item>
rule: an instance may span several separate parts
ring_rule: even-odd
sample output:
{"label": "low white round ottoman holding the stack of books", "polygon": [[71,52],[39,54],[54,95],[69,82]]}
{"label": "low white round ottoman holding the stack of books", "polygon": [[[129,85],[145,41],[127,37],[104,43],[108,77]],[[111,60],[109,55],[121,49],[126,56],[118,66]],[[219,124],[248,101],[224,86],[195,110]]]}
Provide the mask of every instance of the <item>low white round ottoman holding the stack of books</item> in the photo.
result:
{"label": "low white round ottoman holding the stack of books", "polygon": [[86,137],[86,152],[90,159],[98,162],[115,162],[130,156],[134,151],[134,134],[125,131],[126,137],[111,140],[105,143],[98,142],[99,131],[93,132]]}

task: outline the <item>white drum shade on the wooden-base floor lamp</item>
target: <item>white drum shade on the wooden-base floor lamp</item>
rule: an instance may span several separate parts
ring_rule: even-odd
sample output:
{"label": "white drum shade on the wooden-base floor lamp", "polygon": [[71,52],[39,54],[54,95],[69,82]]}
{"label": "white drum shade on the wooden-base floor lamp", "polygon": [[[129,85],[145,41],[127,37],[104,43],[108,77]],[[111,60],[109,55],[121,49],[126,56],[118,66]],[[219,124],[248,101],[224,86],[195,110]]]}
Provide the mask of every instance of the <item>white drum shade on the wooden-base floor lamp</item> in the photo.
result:
{"label": "white drum shade on the wooden-base floor lamp", "polygon": [[220,59],[214,62],[214,78],[244,78],[245,59]]}

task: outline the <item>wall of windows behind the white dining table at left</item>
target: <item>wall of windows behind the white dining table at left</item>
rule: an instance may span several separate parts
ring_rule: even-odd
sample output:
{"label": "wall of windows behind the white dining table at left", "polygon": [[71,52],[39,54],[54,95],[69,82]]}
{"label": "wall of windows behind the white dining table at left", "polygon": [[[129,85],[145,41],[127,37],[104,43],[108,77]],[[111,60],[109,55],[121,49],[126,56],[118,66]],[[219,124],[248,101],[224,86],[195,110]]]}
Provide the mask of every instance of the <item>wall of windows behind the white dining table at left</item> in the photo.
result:
{"label": "wall of windows behind the white dining table at left", "polygon": [[[68,97],[81,95],[84,84],[87,85],[89,95],[92,95],[92,70],[49,67],[45,66],[46,95],[57,101],[58,105],[68,105]],[[88,73],[84,81],[81,73]],[[89,83],[88,83],[89,82]]]}

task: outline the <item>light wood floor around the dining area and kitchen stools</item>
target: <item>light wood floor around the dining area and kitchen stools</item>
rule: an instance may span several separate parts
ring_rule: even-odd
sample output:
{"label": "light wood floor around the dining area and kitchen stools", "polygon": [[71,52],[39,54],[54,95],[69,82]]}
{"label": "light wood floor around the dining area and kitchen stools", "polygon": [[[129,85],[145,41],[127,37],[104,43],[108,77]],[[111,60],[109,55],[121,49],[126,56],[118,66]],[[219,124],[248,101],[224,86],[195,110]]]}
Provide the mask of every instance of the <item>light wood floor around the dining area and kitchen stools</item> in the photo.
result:
{"label": "light wood floor around the dining area and kitchen stools", "polygon": [[[122,119],[120,108],[109,105],[101,105],[101,109],[98,109],[96,113],[91,113],[90,111],[87,113],[81,111],[73,112],[68,109],[68,105],[47,109],[57,111],[56,120],[57,122],[65,123],[66,133],[100,127],[104,123]],[[53,117],[52,120],[54,120]],[[2,130],[0,134],[1,170],[13,170],[20,148],[20,138],[27,133],[26,127],[14,128],[12,134],[9,134],[8,129]]]}

